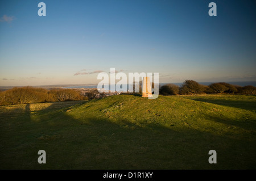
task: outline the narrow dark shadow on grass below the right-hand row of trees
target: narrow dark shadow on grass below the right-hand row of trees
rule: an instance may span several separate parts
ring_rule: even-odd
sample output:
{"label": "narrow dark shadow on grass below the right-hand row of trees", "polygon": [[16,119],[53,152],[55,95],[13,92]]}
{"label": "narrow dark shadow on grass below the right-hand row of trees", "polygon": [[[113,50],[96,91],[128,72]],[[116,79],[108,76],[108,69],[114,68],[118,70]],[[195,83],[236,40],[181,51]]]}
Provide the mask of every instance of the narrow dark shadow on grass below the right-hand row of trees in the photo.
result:
{"label": "narrow dark shadow on grass below the right-hand row of trees", "polygon": [[256,111],[256,102],[250,102],[246,100],[223,100],[223,99],[192,99],[200,102],[205,103],[213,103],[218,104],[221,106],[228,106],[228,107],[235,107],[235,108],[241,108],[243,110],[253,110]]}

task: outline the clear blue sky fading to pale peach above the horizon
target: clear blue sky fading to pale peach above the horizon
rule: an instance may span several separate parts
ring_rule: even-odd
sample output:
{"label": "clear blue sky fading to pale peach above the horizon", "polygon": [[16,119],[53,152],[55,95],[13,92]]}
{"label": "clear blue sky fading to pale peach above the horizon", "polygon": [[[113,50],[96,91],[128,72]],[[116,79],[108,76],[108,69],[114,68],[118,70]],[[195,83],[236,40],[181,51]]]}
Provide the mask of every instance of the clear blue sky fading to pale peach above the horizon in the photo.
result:
{"label": "clear blue sky fading to pale peach above the horizon", "polygon": [[[217,16],[209,16],[210,2]],[[2,0],[0,86],[98,83],[110,68],[159,73],[162,83],[256,81],[255,7],[249,0]]]}

